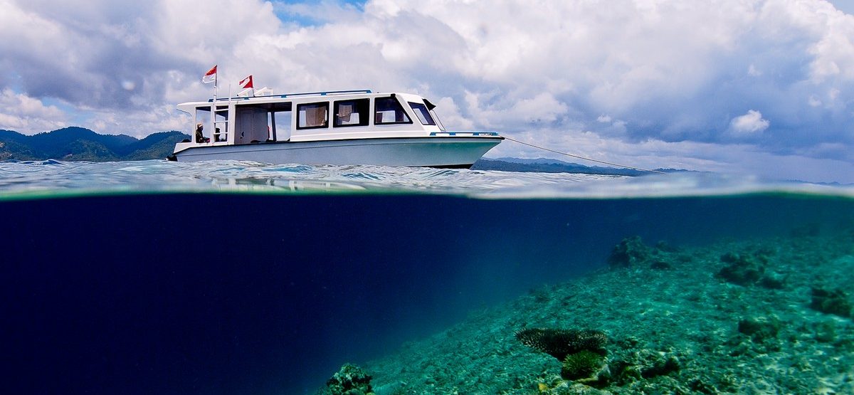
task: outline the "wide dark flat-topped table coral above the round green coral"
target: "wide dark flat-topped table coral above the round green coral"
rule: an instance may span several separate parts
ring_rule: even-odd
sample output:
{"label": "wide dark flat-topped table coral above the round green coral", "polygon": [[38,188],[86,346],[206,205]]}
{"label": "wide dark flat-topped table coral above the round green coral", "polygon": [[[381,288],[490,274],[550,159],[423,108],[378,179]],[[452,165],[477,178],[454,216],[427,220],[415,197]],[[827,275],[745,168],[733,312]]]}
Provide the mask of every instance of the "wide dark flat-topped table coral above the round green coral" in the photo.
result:
{"label": "wide dark flat-topped table coral above the round green coral", "polygon": [[566,356],[579,351],[605,354],[608,337],[594,329],[544,329],[529,328],[516,333],[516,339],[535,350],[563,361]]}

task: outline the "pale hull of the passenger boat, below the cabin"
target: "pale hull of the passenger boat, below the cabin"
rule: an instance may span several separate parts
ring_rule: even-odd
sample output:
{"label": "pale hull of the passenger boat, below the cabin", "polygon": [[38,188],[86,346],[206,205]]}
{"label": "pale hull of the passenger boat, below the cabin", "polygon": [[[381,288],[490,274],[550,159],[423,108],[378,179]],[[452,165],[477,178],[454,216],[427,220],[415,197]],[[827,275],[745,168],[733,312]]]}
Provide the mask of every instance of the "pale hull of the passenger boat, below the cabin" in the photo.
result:
{"label": "pale hull of the passenger boat, below the cabin", "polygon": [[175,152],[171,159],[469,168],[502,139],[497,136],[424,137],[196,145]]}

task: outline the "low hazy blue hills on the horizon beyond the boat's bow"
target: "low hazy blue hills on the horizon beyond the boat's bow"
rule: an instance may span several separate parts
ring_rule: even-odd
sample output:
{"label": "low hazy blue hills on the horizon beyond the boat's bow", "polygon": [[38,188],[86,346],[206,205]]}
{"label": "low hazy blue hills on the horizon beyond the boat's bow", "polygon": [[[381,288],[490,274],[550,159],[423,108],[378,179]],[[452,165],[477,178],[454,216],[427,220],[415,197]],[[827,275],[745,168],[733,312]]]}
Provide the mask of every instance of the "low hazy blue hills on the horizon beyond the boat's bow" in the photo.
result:
{"label": "low hazy blue hills on the horizon beyond the boat's bow", "polygon": [[[580,173],[631,176],[650,174],[649,172],[631,168],[606,168],[602,166],[585,166],[578,163],[563,162],[557,159],[520,159],[514,157],[500,157],[497,159],[482,158],[475,162],[471,169],[501,170],[508,172]],[[656,168],[654,170],[664,173],[688,171],[674,168]]]}

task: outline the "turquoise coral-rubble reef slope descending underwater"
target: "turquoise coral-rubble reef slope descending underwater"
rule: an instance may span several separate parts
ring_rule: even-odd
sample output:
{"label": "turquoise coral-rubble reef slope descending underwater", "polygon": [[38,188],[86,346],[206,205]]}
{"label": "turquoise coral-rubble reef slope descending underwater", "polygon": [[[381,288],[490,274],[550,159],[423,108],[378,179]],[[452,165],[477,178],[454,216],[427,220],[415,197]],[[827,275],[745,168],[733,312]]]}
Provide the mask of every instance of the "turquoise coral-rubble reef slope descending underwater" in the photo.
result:
{"label": "turquoise coral-rubble reef slope descending underwater", "polygon": [[[377,395],[854,393],[854,232],[645,245],[609,265],[473,312],[442,333],[365,364]],[[526,347],[525,328],[608,336],[602,367],[564,380]]]}

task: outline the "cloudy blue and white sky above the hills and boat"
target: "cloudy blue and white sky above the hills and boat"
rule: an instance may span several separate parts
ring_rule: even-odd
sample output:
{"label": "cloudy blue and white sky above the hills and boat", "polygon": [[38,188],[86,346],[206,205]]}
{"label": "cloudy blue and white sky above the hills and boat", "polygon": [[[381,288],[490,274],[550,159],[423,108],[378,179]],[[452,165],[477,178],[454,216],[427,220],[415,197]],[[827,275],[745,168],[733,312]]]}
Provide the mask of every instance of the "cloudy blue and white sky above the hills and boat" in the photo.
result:
{"label": "cloudy blue and white sky above the hills and boat", "polygon": [[[854,183],[854,0],[0,0],[0,129],[190,133],[177,103],[406,91],[577,156]],[[230,87],[231,86],[231,87]],[[577,159],[505,141],[488,157]],[[582,162],[593,165],[595,163]]]}

